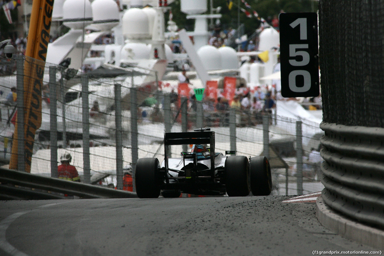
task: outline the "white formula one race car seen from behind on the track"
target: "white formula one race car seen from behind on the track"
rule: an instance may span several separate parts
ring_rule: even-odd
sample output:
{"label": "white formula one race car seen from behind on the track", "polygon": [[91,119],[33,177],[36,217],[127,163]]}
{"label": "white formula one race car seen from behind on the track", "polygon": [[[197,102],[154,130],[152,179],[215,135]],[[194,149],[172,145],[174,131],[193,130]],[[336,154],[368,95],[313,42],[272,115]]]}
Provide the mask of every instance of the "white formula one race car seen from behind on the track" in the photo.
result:
{"label": "white formula one race car seen from behind on the track", "polygon": [[[169,146],[191,145],[191,152],[180,158],[168,158]],[[209,144],[209,146],[208,146]],[[271,193],[271,168],[264,156],[235,156],[234,151],[215,152],[215,132],[164,134],[165,158],[140,158],[136,164],[136,193],[139,198],[179,197],[195,195],[255,196]]]}

